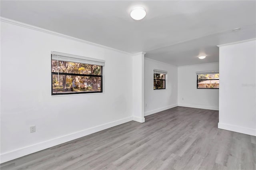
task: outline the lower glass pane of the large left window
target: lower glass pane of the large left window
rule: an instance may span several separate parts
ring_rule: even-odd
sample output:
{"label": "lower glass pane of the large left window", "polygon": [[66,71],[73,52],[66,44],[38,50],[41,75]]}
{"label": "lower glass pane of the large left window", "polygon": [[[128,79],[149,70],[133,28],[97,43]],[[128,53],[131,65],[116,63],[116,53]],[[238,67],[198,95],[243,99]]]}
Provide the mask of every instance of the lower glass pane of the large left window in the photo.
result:
{"label": "lower glass pane of the large left window", "polygon": [[52,75],[53,93],[102,91],[101,77]]}

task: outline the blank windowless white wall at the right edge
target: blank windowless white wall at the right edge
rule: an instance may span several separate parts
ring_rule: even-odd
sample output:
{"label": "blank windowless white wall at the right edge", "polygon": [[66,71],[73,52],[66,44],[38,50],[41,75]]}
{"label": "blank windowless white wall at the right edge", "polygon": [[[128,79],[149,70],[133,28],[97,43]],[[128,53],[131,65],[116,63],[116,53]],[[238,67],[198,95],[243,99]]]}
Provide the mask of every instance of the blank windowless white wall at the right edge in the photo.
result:
{"label": "blank windowless white wall at the right edge", "polygon": [[256,136],[256,40],[220,45],[218,127]]}

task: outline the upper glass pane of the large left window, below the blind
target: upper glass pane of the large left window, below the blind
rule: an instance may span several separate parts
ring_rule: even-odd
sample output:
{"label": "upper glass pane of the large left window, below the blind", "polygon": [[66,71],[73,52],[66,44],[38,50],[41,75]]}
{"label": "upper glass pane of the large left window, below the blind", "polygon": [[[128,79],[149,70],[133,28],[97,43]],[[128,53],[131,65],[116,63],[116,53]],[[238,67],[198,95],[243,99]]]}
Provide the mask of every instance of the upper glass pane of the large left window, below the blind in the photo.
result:
{"label": "upper glass pane of the large left window, below the blind", "polygon": [[52,72],[101,75],[100,65],[52,60]]}

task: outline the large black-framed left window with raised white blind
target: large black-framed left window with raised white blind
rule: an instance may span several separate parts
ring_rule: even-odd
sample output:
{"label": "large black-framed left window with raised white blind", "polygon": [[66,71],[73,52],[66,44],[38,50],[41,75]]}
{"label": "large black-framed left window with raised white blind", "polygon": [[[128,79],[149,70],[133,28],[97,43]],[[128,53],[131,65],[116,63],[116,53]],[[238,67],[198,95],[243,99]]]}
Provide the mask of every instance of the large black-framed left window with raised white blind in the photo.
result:
{"label": "large black-framed left window with raised white blind", "polygon": [[103,60],[52,51],[52,95],[102,93]]}

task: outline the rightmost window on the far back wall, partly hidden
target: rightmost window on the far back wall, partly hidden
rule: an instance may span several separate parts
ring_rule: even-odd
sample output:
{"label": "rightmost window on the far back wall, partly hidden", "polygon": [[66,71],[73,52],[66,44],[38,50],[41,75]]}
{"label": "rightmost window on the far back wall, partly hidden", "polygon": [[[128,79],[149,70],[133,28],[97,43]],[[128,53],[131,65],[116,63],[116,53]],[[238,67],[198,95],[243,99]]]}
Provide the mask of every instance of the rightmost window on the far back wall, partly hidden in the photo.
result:
{"label": "rightmost window on the far back wall, partly hidden", "polygon": [[197,88],[198,89],[219,89],[219,72],[198,72],[197,76]]}

